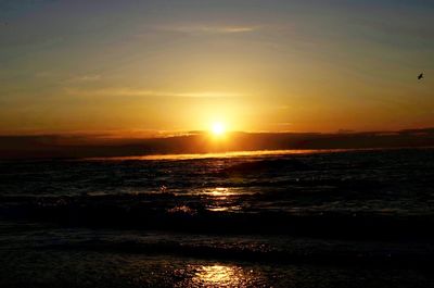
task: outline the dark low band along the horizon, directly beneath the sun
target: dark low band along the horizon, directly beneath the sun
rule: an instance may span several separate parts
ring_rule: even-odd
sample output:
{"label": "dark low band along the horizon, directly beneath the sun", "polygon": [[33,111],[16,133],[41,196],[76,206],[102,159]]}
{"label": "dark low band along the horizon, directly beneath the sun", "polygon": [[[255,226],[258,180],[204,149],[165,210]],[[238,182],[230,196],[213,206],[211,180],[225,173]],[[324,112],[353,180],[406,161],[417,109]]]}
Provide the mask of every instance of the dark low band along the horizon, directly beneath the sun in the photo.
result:
{"label": "dark low band along the horizon, directly beneath the sun", "polygon": [[305,153],[323,150],[430,147],[434,147],[434,128],[350,134],[228,133],[226,137],[219,139],[205,133],[146,139],[104,139],[61,135],[0,136],[0,159],[155,158],[155,155],[221,154],[245,151],[275,151],[272,153],[302,151]]}

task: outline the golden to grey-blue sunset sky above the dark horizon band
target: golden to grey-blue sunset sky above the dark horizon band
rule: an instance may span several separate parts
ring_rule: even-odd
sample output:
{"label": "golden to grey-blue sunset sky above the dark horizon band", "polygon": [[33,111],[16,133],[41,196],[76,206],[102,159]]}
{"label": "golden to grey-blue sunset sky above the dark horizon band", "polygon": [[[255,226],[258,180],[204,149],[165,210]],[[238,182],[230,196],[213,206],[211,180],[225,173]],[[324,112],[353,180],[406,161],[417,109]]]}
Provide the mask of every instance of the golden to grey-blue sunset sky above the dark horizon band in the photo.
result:
{"label": "golden to grey-blue sunset sky above the dark horizon band", "polygon": [[0,134],[432,127],[433,15],[422,0],[0,0]]}

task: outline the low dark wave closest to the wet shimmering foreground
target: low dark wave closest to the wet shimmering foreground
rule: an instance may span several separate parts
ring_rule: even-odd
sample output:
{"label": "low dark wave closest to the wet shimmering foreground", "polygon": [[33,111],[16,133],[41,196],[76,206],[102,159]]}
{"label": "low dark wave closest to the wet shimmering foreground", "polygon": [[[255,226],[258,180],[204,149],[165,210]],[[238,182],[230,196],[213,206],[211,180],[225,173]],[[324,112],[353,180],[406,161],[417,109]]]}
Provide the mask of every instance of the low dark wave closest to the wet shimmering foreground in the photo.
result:
{"label": "low dark wave closest to the wet shimmering foreground", "polygon": [[324,249],[317,246],[314,249],[277,249],[270,246],[258,246],[245,243],[235,245],[208,245],[208,243],[182,243],[178,241],[113,241],[113,240],[85,240],[69,243],[51,243],[39,247],[39,249],[55,250],[84,250],[110,253],[133,253],[146,255],[176,255],[183,258],[197,258],[205,260],[244,261],[259,263],[282,264],[315,264],[315,265],[345,265],[345,266],[427,266],[433,263],[434,253],[426,249],[408,249],[405,247],[393,247],[385,249],[360,250],[345,249],[336,243],[331,245],[334,249]]}

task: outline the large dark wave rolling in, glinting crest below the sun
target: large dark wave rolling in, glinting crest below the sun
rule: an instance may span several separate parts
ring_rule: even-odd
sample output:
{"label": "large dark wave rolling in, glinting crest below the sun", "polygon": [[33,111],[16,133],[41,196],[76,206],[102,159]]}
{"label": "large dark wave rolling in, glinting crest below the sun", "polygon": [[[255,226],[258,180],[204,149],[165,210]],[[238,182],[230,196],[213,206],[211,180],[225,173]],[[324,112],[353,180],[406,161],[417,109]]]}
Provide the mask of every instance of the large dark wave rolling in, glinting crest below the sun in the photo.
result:
{"label": "large dark wave rolling in, glinting crest below the sun", "polygon": [[[394,211],[293,209],[219,210],[170,193],[101,197],[11,197],[0,201],[0,216],[55,223],[62,226],[135,227],[206,234],[303,235],[342,239],[434,238],[434,214]],[[217,201],[217,200],[215,200]],[[230,202],[229,204],[233,204]],[[240,203],[241,204],[241,203]],[[232,206],[233,208],[233,206]]]}

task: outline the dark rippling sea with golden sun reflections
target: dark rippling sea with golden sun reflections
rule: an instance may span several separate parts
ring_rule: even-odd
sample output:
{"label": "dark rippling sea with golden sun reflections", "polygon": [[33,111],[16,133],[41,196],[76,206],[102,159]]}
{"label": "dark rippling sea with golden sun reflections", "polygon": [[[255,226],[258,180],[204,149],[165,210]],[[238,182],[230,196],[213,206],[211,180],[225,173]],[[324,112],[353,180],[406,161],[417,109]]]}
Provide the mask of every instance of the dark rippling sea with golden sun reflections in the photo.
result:
{"label": "dark rippling sea with golden sun reflections", "polygon": [[434,149],[0,161],[0,287],[434,287]]}

